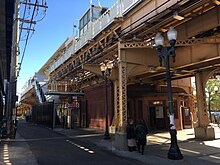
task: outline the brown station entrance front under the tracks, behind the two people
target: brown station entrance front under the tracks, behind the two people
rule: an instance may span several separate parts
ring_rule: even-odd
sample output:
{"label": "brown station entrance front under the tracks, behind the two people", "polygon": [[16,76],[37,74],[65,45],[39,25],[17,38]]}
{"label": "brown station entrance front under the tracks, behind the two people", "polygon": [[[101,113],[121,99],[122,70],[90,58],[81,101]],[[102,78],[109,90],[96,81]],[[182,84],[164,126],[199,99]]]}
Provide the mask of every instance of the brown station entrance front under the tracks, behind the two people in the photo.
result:
{"label": "brown station entrance front under the tracks, behind the two people", "polygon": [[[132,85],[128,88],[128,117],[135,122],[144,119],[151,131],[169,130],[166,88],[158,92],[154,86]],[[181,88],[174,88],[173,109],[177,130],[192,127],[192,99]]]}

